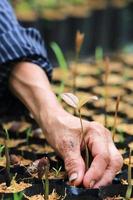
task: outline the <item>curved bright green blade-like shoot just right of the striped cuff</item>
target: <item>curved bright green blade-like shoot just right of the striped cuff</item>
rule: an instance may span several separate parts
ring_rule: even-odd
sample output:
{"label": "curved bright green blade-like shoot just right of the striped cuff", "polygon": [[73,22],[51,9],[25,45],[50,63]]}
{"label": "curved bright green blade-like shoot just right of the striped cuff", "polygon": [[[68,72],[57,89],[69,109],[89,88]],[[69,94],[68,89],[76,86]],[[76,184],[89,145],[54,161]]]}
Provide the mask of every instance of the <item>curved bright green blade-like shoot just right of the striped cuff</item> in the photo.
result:
{"label": "curved bright green blade-like shoot just right of the striped cuff", "polygon": [[60,83],[60,87],[58,91],[58,99],[60,100],[60,94],[64,92],[65,81],[67,80],[67,76],[68,76],[68,64],[66,62],[66,59],[64,57],[64,54],[60,46],[56,42],[51,43],[51,48],[56,55],[56,58],[57,58],[57,61],[62,73],[61,74],[62,79],[61,79],[61,83]]}

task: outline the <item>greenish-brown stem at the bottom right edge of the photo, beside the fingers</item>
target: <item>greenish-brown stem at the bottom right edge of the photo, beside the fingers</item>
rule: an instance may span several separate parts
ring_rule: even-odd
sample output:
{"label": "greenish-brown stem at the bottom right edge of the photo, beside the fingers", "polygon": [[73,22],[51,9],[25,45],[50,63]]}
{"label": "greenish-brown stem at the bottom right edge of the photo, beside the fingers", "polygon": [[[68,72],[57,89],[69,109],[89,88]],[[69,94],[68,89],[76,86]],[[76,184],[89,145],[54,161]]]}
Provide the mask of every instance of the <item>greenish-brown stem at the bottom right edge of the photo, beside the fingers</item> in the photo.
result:
{"label": "greenish-brown stem at the bottom right edge of the photo, beside the fingers", "polygon": [[132,157],[132,149],[129,151],[129,164],[128,164],[128,187],[126,191],[126,200],[130,200],[132,194],[132,170],[131,170],[131,157]]}

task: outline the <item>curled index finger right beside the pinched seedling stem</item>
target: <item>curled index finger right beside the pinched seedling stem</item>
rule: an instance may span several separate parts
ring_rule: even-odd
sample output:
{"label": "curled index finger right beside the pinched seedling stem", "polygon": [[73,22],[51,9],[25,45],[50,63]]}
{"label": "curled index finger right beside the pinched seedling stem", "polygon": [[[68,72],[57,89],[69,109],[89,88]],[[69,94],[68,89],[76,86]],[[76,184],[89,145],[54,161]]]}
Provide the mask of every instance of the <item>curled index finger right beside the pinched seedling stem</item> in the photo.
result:
{"label": "curled index finger right beside the pinched seedling stem", "polygon": [[88,146],[94,159],[84,176],[83,184],[85,187],[93,187],[105,173],[110,163],[110,157],[106,129],[98,126],[92,129],[88,135]]}

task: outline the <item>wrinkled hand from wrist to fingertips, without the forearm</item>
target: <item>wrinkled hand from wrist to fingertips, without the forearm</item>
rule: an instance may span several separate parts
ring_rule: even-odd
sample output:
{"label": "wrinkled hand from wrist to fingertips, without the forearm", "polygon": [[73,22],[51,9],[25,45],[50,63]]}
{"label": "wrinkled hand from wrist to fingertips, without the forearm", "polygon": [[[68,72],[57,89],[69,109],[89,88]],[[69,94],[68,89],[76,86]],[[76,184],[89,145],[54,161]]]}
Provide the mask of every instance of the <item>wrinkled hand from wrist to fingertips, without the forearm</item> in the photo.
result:
{"label": "wrinkled hand from wrist to fingertips, without the forearm", "polygon": [[96,122],[84,120],[83,126],[85,143],[93,156],[87,171],[81,156],[81,149],[84,146],[81,141],[79,118],[70,114],[58,115],[49,128],[51,133],[47,139],[63,157],[69,180],[75,186],[83,183],[86,188],[98,188],[110,184],[123,164],[123,159],[112,141],[111,133]]}

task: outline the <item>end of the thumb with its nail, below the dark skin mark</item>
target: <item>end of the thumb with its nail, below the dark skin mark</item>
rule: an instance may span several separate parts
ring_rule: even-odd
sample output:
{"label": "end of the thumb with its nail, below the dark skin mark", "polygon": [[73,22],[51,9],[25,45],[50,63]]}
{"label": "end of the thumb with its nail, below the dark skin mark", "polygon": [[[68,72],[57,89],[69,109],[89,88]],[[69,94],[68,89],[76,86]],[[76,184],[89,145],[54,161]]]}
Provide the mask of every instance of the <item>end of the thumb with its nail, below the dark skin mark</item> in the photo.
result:
{"label": "end of the thumb with its nail, below the dark skin mark", "polygon": [[85,164],[80,154],[80,149],[78,151],[67,152],[64,162],[70,183],[74,186],[79,185],[82,182],[85,173]]}

